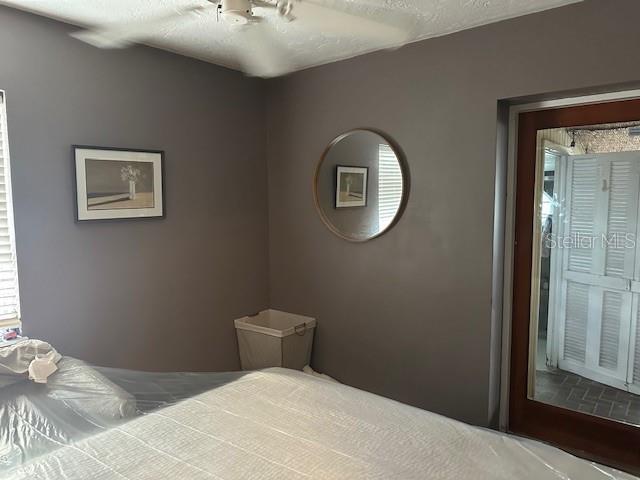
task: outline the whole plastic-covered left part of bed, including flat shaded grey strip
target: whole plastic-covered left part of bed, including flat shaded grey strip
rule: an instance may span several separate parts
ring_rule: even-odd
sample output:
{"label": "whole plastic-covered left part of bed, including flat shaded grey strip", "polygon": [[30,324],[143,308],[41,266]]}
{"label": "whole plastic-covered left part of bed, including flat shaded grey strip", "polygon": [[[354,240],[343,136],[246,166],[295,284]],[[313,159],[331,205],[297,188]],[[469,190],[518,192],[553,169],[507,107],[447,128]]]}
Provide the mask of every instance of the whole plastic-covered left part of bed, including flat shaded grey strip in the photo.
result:
{"label": "whole plastic-covered left part of bed, including flat shaded grey strip", "polygon": [[0,371],[0,476],[243,375],[138,372],[93,367],[71,357],[63,357],[57,366],[46,384]]}

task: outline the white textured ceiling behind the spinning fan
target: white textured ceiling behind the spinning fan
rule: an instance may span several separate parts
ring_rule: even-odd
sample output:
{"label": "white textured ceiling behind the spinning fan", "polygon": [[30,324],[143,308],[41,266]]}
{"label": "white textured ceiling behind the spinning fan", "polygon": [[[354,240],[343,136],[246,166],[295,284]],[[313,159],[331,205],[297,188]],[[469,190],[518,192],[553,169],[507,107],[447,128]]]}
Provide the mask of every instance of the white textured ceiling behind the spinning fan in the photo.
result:
{"label": "white textured ceiling behind the spinning fan", "polygon": [[[326,0],[345,4],[375,16],[371,5],[404,12],[415,22],[414,39],[424,39],[517,17],[582,0]],[[104,26],[112,22],[146,20],[176,9],[207,5],[206,0],[4,0],[0,3],[66,21],[78,26]],[[272,9],[255,8],[275,32],[272,42],[290,60],[287,70],[300,70],[373,50],[383,45],[359,35],[353,22],[347,33],[303,21],[286,22]],[[302,20],[302,18],[300,19]],[[313,25],[313,27],[311,26]],[[349,28],[353,26],[354,28]],[[331,33],[328,33],[328,32]],[[252,48],[250,37],[218,22],[215,8],[199,15],[186,14],[158,26],[142,43],[230,68],[239,68],[239,49]]]}

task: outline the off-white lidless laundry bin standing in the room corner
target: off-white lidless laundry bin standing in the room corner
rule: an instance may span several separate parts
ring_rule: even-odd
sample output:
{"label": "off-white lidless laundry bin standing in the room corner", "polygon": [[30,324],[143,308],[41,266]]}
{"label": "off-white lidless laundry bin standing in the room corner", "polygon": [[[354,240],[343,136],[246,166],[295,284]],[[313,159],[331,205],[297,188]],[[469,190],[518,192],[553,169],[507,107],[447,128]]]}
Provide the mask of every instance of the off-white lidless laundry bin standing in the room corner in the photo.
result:
{"label": "off-white lidless laundry bin standing in the room corner", "polygon": [[316,319],[263,310],[235,320],[243,370],[284,367],[302,370],[311,360]]}

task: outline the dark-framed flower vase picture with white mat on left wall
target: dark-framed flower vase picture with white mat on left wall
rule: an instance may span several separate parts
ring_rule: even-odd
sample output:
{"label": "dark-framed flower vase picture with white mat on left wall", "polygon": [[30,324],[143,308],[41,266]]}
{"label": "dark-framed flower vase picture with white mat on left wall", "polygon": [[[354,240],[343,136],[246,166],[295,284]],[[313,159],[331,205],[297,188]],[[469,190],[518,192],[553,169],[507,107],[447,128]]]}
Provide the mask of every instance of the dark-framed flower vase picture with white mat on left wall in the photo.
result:
{"label": "dark-framed flower vase picture with white mat on left wall", "polygon": [[164,151],[73,145],[75,219],[164,218]]}

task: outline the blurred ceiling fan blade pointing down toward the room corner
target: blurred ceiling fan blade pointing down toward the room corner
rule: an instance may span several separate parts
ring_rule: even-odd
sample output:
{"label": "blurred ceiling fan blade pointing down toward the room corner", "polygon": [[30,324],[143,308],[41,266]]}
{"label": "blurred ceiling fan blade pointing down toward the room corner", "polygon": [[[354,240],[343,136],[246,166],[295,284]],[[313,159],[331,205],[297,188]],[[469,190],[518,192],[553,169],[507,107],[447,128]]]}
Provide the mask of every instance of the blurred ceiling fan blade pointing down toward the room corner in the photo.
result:
{"label": "blurred ceiling fan blade pointing down toward the room corner", "polygon": [[294,70],[286,48],[266,21],[251,23],[241,29],[246,44],[237,53],[247,75],[271,78]]}

